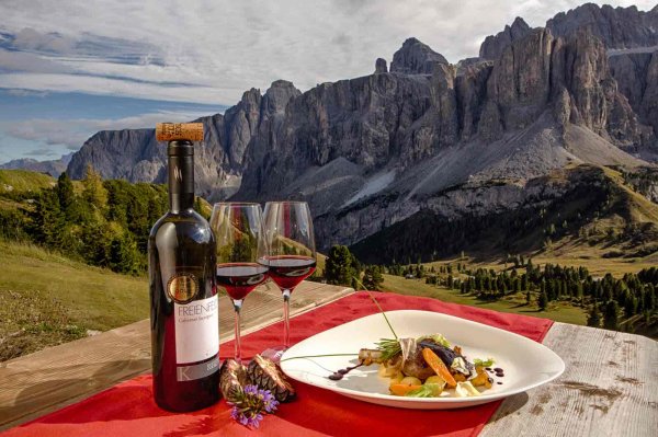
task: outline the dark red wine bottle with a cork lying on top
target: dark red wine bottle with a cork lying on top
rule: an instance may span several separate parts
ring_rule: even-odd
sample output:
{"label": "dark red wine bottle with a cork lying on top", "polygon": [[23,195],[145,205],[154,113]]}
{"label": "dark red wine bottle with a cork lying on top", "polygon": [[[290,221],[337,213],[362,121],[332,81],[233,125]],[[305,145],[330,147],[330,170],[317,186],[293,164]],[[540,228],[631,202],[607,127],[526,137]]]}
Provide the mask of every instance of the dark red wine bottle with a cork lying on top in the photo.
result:
{"label": "dark red wine bottle with a cork lying on top", "polygon": [[148,240],[154,396],[184,412],[219,399],[215,237],[193,209],[194,143],[203,124],[158,124],[168,140],[170,209]]}

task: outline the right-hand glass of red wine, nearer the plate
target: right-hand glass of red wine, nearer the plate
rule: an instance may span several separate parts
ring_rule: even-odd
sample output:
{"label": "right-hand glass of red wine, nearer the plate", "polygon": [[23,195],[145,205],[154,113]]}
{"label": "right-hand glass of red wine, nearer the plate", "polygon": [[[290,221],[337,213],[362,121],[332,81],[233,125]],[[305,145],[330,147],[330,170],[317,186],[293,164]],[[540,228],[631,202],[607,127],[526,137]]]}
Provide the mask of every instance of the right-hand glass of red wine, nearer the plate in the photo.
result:
{"label": "right-hand glass of red wine, nearer the plate", "polygon": [[270,248],[263,264],[269,266],[270,278],[283,295],[283,345],[269,348],[263,355],[277,361],[291,345],[291,295],[316,268],[313,219],[308,205],[306,202],[268,202],[263,228]]}

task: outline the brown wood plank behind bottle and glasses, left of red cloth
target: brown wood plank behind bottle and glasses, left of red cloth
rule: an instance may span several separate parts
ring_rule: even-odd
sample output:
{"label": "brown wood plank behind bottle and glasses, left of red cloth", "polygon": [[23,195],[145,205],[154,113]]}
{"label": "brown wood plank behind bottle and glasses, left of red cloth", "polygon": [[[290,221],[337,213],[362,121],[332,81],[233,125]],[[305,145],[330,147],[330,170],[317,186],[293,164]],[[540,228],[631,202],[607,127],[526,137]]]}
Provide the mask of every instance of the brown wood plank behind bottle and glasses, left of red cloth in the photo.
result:
{"label": "brown wood plank behind bottle and glasses, left of red cloth", "polygon": [[[291,314],[353,292],[351,288],[304,281],[291,300]],[[230,300],[220,298],[219,337],[232,338]],[[266,284],[245,301],[242,332],[281,320],[283,299]],[[49,347],[0,363],[0,429],[27,422],[150,370],[149,321]]]}

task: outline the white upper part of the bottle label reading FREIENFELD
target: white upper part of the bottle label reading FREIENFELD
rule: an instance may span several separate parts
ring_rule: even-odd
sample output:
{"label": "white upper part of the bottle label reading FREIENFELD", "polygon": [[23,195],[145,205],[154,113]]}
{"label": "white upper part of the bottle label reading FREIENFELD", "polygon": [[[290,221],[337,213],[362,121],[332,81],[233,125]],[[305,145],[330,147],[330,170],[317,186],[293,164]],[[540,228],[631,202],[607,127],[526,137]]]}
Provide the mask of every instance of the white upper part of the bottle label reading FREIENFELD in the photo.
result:
{"label": "white upper part of the bottle label reading FREIENFELD", "polygon": [[217,295],[190,303],[173,303],[175,363],[196,364],[219,353]]}

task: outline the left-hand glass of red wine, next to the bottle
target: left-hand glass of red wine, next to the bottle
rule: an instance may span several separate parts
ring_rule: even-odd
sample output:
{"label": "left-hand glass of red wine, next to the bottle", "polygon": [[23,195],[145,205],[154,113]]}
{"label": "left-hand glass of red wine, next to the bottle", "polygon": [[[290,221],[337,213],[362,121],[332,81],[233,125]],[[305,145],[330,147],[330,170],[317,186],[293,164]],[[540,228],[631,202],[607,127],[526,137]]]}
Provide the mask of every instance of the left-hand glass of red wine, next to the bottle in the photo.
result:
{"label": "left-hand glass of red wine, next to the bottle", "polygon": [[217,287],[225,290],[235,309],[235,359],[241,363],[240,310],[242,301],[268,278],[268,244],[258,204],[219,203],[213,207],[211,228],[217,240]]}

